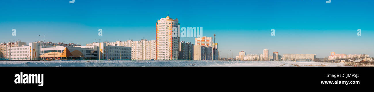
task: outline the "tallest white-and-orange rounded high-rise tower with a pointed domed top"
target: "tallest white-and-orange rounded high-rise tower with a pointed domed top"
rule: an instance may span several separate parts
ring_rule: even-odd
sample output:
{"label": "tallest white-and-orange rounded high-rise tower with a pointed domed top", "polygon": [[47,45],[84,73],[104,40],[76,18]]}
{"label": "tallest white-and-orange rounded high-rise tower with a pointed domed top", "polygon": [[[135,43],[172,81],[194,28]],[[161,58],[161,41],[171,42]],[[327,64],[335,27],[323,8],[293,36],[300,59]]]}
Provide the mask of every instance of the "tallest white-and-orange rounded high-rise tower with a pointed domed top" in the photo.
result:
{"label": "tallest white-and-orange rounded high-rise tower with a pointed domed top", "polygon": [[[169,14],[156,23],[156,59],[177,60],[179,54],[178,19],[171,19]],[[175,27],[175,30],[173,30]],[[173,37],[173,35],[175,37]]]}

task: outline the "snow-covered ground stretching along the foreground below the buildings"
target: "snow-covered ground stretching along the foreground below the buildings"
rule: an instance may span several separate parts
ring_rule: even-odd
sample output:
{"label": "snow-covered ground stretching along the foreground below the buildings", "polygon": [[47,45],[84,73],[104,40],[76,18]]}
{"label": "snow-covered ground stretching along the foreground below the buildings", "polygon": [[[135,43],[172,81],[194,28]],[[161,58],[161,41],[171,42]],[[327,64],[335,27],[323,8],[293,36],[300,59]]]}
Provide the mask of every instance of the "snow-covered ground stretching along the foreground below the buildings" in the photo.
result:
{"label": "snow-covered ground stretching along the foreground below the buildings", "polygon": [[217,60],[75,60],[0,61],[0,66],[344,66],[313,61],[217,61]]}

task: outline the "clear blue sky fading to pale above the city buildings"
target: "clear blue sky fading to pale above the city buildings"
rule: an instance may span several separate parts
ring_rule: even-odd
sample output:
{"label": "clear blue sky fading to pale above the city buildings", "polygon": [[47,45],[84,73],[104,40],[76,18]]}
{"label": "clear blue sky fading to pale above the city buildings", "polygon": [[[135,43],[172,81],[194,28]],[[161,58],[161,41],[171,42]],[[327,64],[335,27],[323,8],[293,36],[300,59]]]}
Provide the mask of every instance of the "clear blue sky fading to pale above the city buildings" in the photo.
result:
{"label": "clear blue sky fading to pale above the city buildings", "polygon": [[[155,40],[156,22],[169,12],[182,27],[216,34],[224,57],[229,52],[231,57],[229,50],[235,57],[242,50],[261,54],[263,49],[318,58],[332,51],[373,57],[373,9],[373,0],[2,0],[0,42],[36,42],[43,34],[48,42],[83,46],[94,39]],[[181,40],[194,43],[194,38]]]}

